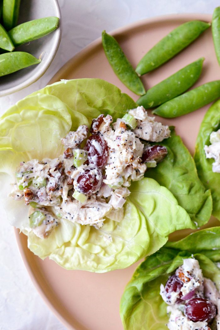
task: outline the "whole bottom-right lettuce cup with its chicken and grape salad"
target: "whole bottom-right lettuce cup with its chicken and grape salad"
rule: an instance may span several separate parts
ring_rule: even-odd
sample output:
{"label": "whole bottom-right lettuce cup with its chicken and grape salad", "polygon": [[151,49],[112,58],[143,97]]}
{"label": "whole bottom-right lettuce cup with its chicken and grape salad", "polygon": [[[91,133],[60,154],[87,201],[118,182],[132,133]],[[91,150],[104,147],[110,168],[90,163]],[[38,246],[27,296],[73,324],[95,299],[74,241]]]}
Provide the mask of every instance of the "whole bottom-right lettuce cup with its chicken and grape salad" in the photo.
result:
{"label": "whole bottom-right lettuce cup with its chicken and grape salad", "polygon": [[120,303],[126,330],[220,327],[220,227],[192,233],[148,256]]}

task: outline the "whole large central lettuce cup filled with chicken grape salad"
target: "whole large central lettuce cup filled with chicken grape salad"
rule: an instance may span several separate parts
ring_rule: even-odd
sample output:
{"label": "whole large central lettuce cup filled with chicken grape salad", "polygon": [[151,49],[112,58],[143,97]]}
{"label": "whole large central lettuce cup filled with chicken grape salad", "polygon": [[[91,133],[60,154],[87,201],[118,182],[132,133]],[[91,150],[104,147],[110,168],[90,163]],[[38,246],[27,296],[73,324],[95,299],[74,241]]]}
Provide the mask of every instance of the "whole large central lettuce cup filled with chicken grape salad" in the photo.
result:
{"label": "whole large central lettuce cup filled with chicken grape salad", "polygon": [[66,269],[128,267],[212,209],[181,139],[100,79],[46,86],[0,118],[0,180],[28,248]]}

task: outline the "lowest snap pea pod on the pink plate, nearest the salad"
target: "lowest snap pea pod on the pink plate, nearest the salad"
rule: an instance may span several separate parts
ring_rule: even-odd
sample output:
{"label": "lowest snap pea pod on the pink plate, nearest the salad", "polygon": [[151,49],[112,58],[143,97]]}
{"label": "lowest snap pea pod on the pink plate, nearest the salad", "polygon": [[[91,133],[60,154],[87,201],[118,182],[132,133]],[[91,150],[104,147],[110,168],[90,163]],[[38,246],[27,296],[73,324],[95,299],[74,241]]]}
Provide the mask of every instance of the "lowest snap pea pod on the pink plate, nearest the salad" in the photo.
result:
{"label": "lowest snap pea pod on the pink plate, nearest the salad", "polygon": [[215,80],[167,101],[152,113],[165,118],[175,118],[202,108],[219,97],[220,80]]}

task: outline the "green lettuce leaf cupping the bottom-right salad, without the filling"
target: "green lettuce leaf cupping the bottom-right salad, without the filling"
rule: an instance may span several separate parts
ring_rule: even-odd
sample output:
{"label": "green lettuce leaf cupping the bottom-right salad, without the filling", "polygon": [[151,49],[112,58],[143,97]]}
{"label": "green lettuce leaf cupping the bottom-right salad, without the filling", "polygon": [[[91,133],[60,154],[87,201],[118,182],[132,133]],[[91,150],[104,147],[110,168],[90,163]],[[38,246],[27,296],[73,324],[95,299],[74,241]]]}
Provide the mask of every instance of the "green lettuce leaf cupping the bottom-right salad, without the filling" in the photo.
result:
{"label": "green lettuce leaf cupping the bottom-right salad, without the filling", "polygon": [[[212,258],[208,257],[213,253]],[[167,242],[136,269],[121,298],[120,315],[125,330],[167,330],[167,305],[160,296],[160,284],[183,263],[199,261],[203,275],[220,289],[220,227],[195,232],[178,242]],[[214,256],[215,255],[215,256]]]}

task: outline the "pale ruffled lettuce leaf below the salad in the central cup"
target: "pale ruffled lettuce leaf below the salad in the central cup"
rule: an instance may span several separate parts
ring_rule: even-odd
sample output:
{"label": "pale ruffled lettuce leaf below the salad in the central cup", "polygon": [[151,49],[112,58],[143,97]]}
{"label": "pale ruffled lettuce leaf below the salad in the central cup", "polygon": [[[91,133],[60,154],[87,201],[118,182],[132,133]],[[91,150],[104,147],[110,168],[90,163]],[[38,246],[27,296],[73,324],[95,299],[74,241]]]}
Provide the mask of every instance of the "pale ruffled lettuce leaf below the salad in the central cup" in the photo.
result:
{"label": "pale ruffled lettuce leaf below the salad in the central cup", "polygon": [[[165,221],[160,207],[166,210]],[[192,228],[190,217],[169,190],[143,179],[132,184],[120,222],[106,219],[95,229],[62,219],[47,240],[30,233],[28,246],[67,269],[105,272],[132,265],[162,247],[173,230],[186,226]]]}

